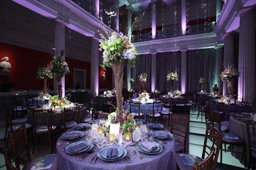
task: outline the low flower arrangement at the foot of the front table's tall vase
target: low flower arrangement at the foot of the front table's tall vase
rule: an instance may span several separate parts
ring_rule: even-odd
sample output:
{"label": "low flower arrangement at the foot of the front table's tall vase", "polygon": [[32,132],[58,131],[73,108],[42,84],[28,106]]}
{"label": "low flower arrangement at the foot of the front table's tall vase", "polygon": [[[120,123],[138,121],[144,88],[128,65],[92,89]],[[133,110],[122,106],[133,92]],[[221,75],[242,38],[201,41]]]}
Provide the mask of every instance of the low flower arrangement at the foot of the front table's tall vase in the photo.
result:
{"label": "low flower arrangement at the foot of the front table's tall vase", "polygon": [[134,115],[131,113],[126,113],[125,111],[122,112],[122,114],[119,114],[118,110],[116,109],[116,106],[112,104],[111,101],[108,101],[109,106],[113,106],[115,108],[115,111],[112,113],[104,113],[103,111],[100,111],[99,114],[106,114],[108,115],[108,119],[106,120],[106,124],[104,127],[104,132],[109,132],[110,124],[120,124],[120,127],[122,128],[123,134],[125,132],[132,132],[134,130]]}

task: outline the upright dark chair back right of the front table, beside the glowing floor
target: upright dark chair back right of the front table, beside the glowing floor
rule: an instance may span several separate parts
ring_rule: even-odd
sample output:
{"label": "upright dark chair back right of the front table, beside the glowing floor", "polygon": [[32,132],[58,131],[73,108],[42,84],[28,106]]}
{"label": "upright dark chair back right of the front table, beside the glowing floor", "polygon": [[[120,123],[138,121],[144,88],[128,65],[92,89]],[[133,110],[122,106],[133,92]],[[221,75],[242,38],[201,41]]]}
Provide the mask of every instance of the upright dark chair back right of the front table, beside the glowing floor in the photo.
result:
{"label": "upright dark chair back right of the front table, beside the glowing floor", "polygon": [[183,152],[186,153],[186,142],[189,134],[189,115],[172,113],[170,132],[173,134],[175,141],[183,144]]}

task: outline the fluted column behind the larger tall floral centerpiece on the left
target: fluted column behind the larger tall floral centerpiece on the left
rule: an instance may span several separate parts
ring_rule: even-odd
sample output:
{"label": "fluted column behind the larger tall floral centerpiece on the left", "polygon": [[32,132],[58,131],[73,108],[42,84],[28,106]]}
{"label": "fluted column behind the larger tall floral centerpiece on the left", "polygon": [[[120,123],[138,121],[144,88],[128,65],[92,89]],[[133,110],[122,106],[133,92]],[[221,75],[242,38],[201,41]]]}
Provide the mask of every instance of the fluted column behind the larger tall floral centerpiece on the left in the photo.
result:
{"label": "fluted column behind the larger tall floral centerpiece on the left", "polygon": [[[60,22],[55,22],[54,32],[54,48],[58,53],[64,50],[63,59],[65,60],[65,25]],[[65,96],[65,76],[61,78],[62,97]],[[54,92],[57,92],[57,81],[54,79]]]}

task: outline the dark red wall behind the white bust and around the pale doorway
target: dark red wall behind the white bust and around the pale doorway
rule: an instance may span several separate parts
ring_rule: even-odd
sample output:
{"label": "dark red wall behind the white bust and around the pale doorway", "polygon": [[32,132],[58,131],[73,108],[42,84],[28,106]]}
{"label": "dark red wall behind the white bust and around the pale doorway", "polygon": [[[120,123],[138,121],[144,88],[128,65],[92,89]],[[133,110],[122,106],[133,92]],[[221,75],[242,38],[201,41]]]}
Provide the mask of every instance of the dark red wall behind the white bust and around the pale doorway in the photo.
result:
{"label": "dark red wall behind the white bust and around the pale doorway", "polygon": [[[12,64],[9,76],[0,75],[0,86],[4,83],[13,84],[13,89],[16,90],[29,90],[29,89],[43,89],[43,80],[36,78],[38,67],[46,66],[51,61],[51,54],[39,52],[20,46],[10,45],[0,42],[0,59],[4,56],[9,57],[9,62]],[[65,59],[68,63],[71,73],[67,74],[66,85],[73,87],[73,74],[74,67],[86,69],[86,87],[90,89],[91,79],[91,64],[81,60]],[[49,80],[52,85],[52,80]]]}

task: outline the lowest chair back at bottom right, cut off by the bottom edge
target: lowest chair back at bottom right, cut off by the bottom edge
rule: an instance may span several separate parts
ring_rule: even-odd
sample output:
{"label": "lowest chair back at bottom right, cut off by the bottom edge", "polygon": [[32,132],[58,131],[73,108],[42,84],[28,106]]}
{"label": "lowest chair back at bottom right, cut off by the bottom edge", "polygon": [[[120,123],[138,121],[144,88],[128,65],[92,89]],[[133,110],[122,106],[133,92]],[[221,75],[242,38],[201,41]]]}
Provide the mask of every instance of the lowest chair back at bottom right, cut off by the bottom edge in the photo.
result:
{"label": "lowest chair back at bottom right, cut off by the bottom edge", "polygon": [[214,164],[214,152],[215,148],[212,147],[210,155],[207,156],[206,159],[202,160],[201,162],[197,163],[194,162],[193,164],[193,170],[214,170],[213,169],[213,164]]}

